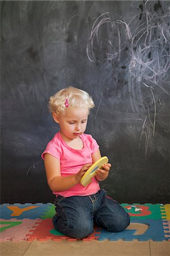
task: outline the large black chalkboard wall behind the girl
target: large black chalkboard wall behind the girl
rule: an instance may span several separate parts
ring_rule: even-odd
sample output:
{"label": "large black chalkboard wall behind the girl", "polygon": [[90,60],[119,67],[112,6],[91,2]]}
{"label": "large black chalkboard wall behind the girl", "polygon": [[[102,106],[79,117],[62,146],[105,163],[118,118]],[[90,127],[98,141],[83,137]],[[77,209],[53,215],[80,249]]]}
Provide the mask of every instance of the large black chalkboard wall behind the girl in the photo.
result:
{"label": "large black chalkboard wall behind the girl", "polygon": [[48,98],[96,103],[88,129],[120,203],[169,203],[169,1],[1,1],[1,202],[53,202]]}

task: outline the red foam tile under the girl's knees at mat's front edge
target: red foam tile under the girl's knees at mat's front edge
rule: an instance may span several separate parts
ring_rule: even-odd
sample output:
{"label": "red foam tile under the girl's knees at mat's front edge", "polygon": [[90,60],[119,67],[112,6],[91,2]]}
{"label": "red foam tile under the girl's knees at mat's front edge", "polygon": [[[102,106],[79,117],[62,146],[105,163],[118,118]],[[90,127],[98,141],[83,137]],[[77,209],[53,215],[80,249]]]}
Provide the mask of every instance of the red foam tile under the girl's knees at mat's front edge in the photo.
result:
{"label": "red foam tile under the girl's knees at mat's front edge", "polygon": [[[94,231],[93,234],[84,238],[84,240],[97,240],[99,237],[99,231]],[[46,218],[42,220],[40,224],[35,228],[30,230],[30,232],[26,235],[28,241],[32,240],[39,240],[39,241],[46,241],[46,240],[68,240],[68,241],[76,241],[76,238],[68,237],[65,234],[62,234],[54,229],[51,218]]]}

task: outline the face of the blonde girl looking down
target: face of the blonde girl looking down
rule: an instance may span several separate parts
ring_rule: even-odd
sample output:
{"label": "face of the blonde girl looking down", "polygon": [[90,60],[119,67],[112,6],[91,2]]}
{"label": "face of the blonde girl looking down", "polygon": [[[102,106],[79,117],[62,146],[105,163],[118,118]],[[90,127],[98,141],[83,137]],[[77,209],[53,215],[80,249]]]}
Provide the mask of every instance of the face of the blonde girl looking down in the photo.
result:
{"label": "face of the blonde girl looking down", "polygon": [[85,132],[88,122],[88,109],[65,109],[59,117],[54,113],[53,119],[59,123],[63,139],[75,139]]}

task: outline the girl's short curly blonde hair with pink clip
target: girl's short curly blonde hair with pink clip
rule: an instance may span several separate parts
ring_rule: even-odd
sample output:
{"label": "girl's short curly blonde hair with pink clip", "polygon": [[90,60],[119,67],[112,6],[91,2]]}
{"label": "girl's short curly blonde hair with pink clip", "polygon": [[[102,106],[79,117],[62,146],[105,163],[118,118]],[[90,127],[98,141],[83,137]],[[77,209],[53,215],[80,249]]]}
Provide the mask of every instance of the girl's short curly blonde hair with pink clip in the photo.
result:
{"label": "girl's short curly blonde hair with pink clip", "polygon": [[86,108],[88,110],[94,108],[94,102],[92,97],[84,90],[69,86],[68,88],[62,89],[55,95],[49,98],[49,111],[51,113],[65,112],[66,102],[68,102],[68,108]]}

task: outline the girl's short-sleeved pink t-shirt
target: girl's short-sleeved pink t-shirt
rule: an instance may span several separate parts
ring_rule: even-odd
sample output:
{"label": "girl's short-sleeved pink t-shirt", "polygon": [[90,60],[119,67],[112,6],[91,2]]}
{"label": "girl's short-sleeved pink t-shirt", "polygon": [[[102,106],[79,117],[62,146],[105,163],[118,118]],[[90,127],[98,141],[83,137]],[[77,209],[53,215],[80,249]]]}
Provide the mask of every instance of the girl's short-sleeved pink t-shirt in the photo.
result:
{"label": "girl's short-sleeved pink t-shirt", "polygon": [[[92,163],[92,154],[99,148],[95,139],[90,134],[81,134],[80,138],[84,144],[81,150],[76,150],[68,146],[59,133],[53,137],[53,139],[47,144],[45,151],[42,153],[48,153],[60,160],[61,176],[69,176],[77,174],[84,164]],[[89,196],[99,191],[99,183],[95,177],[92,178],[92,182],[84,187],[80,183],[74,185],[66,191],[53,191],[55,195],[61,195],[64,197],[69,196]]]}

